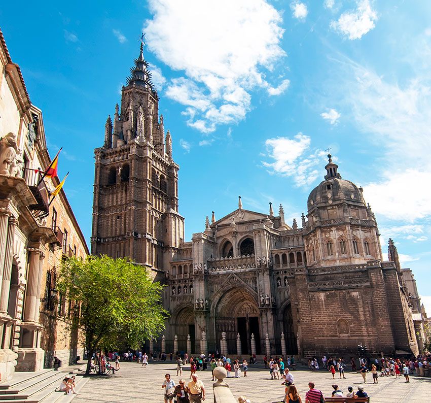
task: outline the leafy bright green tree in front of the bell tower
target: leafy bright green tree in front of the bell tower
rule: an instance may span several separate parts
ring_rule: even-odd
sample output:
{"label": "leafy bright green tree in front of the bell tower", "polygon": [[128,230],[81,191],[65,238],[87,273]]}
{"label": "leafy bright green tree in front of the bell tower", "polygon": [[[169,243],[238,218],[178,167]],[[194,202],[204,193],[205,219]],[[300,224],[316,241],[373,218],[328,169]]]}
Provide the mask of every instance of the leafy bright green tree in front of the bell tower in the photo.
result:
{"label": "leafy bright green tree in front of the bell tower", "polygon": [[81,306],[70,327],[83,332],[82,343],[91,356],[98,348],[117,348],[120,341],[138,348],[164,328],[167,311],[161,306],[160,283],[153,283],[146,267],[127,259],[88,256],[69,258],[60,268],[58,290]]}

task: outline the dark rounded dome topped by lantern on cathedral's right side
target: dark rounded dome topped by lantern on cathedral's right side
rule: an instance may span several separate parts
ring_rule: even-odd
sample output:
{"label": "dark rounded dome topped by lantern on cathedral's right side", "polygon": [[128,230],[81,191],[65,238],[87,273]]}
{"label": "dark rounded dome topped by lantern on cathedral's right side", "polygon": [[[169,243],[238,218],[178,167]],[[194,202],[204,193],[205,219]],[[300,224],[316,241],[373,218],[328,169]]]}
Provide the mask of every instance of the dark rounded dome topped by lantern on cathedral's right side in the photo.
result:
{"label": "dark rounded dome topped by lantern on cathedral's right side", "polygon": [[362,190],[354,183],[341,179],[341,175],[337,172],[338,165],[332,162],[331,157],[329,154],[329,163],[325,166],[327,170],[325,180],[320,182],[308,196],[308,211],[316,205],[332,205],[339,202],[365,207]]}

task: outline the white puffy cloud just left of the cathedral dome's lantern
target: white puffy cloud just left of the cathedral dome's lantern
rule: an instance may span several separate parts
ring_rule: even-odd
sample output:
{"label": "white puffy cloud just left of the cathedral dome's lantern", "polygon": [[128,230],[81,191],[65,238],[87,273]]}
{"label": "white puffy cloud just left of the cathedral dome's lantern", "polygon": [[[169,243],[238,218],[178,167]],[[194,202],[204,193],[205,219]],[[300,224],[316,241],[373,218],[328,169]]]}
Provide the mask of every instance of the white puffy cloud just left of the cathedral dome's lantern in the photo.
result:
{"label": "white puffy cloud just left of the cathedral dome's lantern", "polygon": [[324,151],[309,150],[311,138],[298,133],[293,139],[277,137],[265,142],[265,156],[272,162],[262,161],[270,174],[292,177],[296,186],[309,186],[319,175],[316,166],[325,156]]}

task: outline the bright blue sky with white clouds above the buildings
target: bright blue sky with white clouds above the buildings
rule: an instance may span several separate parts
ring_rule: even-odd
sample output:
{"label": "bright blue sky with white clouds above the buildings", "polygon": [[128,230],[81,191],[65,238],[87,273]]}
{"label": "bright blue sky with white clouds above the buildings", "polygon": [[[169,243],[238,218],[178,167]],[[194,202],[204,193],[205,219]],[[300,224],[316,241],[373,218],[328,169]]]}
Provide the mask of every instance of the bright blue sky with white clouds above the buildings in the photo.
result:
{"label": "bright blue sky with white clouds above the buildings", "polygon": [[0,26],[87,240],[93,149],[145,30],[187,239],[238,195],[300,222],[330,147],[431,313],[430,16],[425,0],[47,1],[7,2]]}

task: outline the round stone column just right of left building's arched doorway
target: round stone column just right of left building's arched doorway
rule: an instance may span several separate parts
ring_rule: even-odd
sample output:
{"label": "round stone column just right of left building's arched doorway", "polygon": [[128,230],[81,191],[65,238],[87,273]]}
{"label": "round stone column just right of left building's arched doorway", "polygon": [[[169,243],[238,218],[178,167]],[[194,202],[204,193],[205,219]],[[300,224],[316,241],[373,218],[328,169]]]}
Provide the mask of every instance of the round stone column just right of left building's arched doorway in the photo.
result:
{"label": "round stone column just right of left building's arched doorway", "polygon": [[34,322],[40,301],[39,271],[41,266],[41,251],[37,248],[28,248],[28,273],[24,303],[24,321]]}

